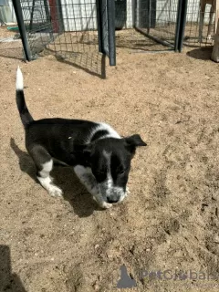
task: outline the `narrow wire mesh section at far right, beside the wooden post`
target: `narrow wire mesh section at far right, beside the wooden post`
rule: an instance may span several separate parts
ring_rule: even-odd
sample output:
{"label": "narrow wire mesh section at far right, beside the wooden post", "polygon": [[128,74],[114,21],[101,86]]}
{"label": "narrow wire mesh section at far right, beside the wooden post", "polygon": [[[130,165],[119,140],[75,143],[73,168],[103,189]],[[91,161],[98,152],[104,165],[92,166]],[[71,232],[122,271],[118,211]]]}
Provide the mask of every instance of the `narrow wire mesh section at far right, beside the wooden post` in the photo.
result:
{"label": "narrow wire mesh section at far right, beside the wooden post", "polygon": [[189,0],[183,42],[191,47],[213,45],[216,0]]}

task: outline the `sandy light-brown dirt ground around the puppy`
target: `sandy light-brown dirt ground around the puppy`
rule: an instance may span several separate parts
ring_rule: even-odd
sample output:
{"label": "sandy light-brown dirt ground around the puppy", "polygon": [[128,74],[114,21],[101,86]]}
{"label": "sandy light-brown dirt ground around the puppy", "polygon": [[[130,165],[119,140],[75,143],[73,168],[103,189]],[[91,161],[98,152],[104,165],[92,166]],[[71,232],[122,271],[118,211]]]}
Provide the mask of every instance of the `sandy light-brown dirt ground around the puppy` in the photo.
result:
{"label": "sandy light-brown dirt ground around the puppy", "polygon": [[[120,48],[110,68],[99,56],[25,63],[19,42],[0,44],[0,291],[119,291],[122,265],[137,284],[122,291],[219,290],[219,66],[210,54]],[[99,210],[70,168],[53,173],[64,199],[36,183],[16,110],[18,65],[35,119],[102,120],[147,141],[123,203]]]}

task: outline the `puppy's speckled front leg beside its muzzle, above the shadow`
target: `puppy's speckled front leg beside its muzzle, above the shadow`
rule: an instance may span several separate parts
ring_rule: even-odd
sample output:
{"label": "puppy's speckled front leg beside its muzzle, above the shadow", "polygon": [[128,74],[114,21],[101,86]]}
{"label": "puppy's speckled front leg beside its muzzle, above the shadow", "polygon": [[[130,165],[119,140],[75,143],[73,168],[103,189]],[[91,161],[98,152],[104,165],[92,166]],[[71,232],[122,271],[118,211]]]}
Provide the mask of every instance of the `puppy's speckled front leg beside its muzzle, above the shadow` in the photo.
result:
{"label": "puppy's speckled front leg beside its muzzle, above the shadow", "polygon": [[101,193],[99,193],[98,183],[96,182],[92,172],[89,168],[82,165],[77,165],[74,167],[74,171],[78,176],[81,183],[85,185],[89,193],[92,194],[93,199],[99,204],[101,208],[109,209],[112,204],[107,203],[103,200]]}

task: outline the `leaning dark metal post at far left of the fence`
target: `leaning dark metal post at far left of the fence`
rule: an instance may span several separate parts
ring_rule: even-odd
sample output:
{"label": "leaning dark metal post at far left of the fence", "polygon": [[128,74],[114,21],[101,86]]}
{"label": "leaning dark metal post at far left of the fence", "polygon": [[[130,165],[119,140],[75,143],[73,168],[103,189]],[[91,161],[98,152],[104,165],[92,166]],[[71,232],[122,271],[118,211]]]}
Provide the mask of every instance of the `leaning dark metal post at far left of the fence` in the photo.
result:
{"label": "leaning dark metal post at far left of the fence", "polygon": [[13,1],[15,13],[16,13],[17,25],[19,27],[20,36],[22,39],[22,44],[24,47],[25,55],[26,55],[26,60],[31,61],[32,60],[31,50],[30,50],[28,39],[26,36],[26,26],[25,26],[23,14],[22,14],[20,0],[12,0],[12,1]]}

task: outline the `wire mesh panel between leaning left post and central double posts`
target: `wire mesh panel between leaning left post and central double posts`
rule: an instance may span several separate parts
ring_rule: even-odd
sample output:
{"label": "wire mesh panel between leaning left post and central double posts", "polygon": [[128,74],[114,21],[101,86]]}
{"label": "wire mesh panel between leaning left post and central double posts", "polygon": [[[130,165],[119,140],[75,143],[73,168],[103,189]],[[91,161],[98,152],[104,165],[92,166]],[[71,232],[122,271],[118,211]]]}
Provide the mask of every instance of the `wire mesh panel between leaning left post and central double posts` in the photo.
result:
{"label": "wire mesh panel between leaning left post and central double posts", "polygon": [[32,55],[98,51],[95,0],[21,0]]}

